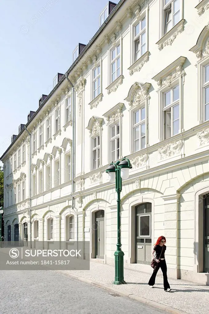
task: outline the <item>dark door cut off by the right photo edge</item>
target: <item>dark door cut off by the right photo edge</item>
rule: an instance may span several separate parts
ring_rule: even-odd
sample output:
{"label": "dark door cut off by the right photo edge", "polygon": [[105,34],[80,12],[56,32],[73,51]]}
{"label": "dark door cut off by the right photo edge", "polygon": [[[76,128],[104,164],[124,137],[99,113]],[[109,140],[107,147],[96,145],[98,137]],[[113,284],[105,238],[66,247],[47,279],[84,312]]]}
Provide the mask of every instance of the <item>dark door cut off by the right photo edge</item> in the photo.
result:
{"label": "dark door cut off by the right photo edge", "polygon": [[204,211],[203,211],[203,255],[204,255],[204,273],[209,273],[209,195],[205,198],[204,201]]}

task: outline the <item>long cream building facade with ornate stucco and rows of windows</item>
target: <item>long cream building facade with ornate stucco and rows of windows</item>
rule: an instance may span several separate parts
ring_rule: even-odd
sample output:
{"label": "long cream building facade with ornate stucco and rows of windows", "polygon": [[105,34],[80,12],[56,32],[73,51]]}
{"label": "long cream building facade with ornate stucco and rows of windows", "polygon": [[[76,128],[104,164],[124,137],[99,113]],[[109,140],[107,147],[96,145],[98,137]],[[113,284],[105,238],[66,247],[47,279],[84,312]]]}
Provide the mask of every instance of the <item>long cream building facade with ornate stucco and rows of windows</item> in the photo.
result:
{"label": "long cream building facade with ornate stucco and rows of windows", "polygon": [[1,158],[6,239],[90,241],[114,264],[105,170],[126,156],[124,266],[151,273],[164,235],[168,275],[209,284],[209,3],[114,6]]}

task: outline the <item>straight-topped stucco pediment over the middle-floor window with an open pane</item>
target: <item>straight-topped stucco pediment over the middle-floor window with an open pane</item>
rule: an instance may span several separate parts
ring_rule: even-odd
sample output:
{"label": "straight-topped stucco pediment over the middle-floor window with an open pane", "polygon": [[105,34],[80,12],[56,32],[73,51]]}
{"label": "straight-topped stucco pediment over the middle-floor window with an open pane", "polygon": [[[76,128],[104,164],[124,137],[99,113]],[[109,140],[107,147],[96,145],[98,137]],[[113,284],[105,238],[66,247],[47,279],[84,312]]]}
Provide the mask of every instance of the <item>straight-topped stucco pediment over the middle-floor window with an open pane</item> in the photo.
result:
{"label": "straight-topped stucco pediment over the middle-floor window with an open pane", "polygon": [[167,68],[163,69],[160,73],[158,73],[152,78],[157,82],[159,88],[163,86],[170,87],[174,79],[186,75],[183,69],[183,64],[185,60],[186,60],[185,57],[179,57],[169,66],[167,66]]}

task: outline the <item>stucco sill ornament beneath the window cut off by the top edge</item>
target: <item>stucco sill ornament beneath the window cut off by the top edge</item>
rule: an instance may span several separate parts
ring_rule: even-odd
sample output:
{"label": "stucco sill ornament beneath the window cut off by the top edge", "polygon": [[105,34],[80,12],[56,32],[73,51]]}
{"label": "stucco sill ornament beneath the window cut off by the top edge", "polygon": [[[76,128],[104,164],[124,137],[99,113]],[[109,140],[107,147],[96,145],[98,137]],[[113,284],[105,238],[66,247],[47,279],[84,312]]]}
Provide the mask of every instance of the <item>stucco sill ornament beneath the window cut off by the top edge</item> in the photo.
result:
{"label": "stucco sill ornament beneath the window cut off by the top edge", "polygon": [[177,35],[182,33],[184,30],[185,19],[180,20],[167,34],[165,34],[156,45],[158,49],[162,50],[165,46],[171,46],[173,41],[176,39]]}

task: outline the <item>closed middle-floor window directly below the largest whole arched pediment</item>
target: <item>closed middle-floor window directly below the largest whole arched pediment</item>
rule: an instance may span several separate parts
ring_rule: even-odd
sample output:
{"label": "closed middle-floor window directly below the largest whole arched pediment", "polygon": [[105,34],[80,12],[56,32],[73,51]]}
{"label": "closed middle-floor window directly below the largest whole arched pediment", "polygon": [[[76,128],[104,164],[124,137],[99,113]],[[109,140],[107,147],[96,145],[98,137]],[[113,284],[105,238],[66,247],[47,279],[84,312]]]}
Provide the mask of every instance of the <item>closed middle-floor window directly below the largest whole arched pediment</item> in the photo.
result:
{"label": "closed middle-floor window directly below the largest whole arched pediment", "polygon": [[134,152],[145,147],[145,107],[133,113]]}

